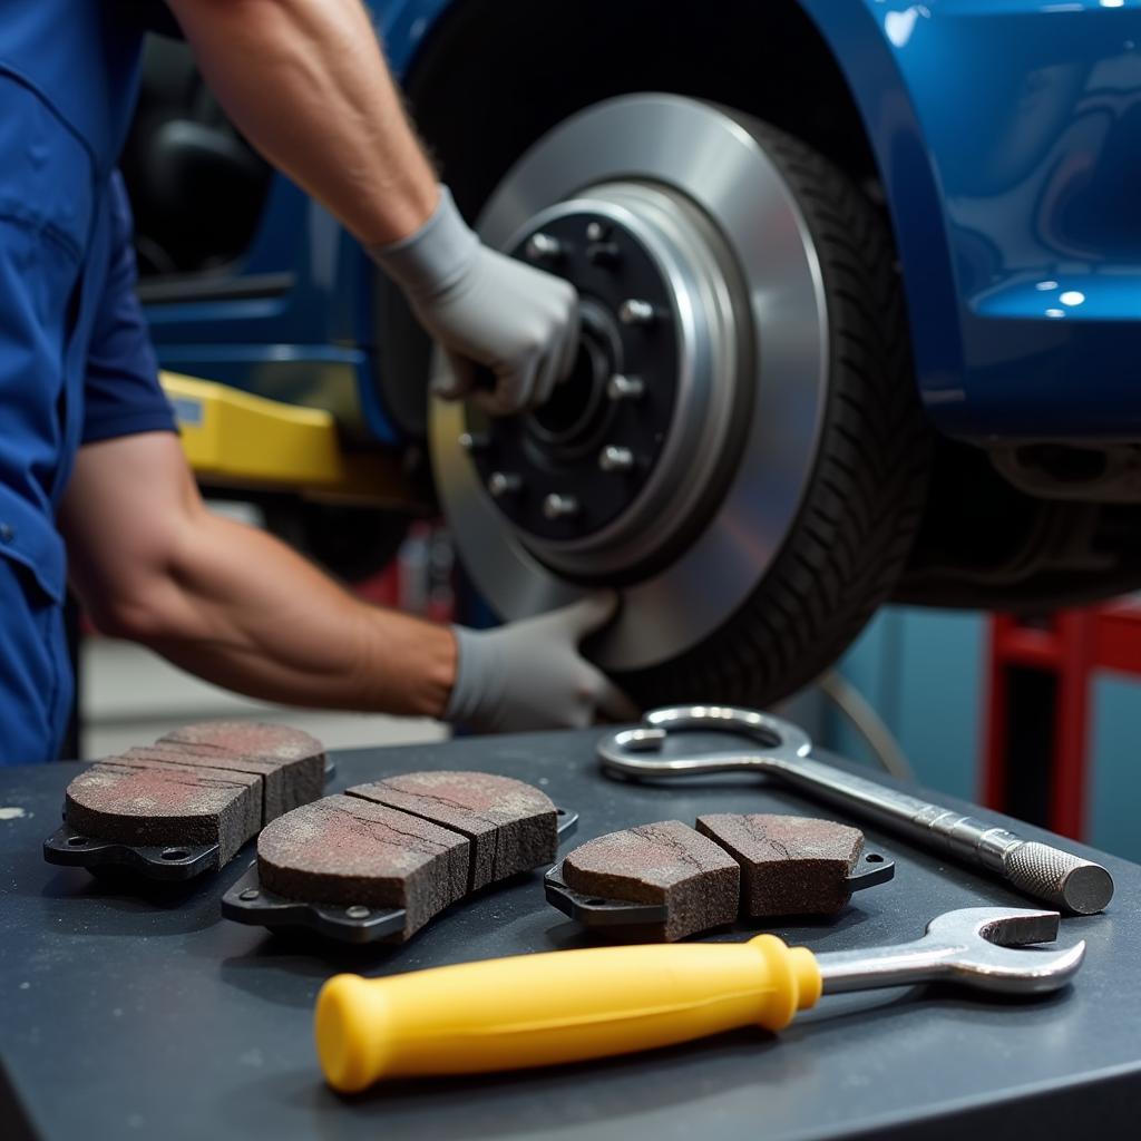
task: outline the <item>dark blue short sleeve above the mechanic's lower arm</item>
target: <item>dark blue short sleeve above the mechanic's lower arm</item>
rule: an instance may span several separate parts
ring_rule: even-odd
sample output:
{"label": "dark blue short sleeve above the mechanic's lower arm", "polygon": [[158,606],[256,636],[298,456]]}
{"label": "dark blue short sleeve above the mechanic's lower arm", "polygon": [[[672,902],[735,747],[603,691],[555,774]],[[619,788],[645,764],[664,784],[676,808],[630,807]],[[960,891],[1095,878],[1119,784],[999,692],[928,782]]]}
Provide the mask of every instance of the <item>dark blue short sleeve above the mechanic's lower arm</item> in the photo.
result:
{"label": "dark blue short sleeve above the mechanic's lower arm", "polygon": [[112,251],[88,348],[83,444],[141,431],[177,431],[159,363],[135,296],[130,205],[116,171],[110,183]]}

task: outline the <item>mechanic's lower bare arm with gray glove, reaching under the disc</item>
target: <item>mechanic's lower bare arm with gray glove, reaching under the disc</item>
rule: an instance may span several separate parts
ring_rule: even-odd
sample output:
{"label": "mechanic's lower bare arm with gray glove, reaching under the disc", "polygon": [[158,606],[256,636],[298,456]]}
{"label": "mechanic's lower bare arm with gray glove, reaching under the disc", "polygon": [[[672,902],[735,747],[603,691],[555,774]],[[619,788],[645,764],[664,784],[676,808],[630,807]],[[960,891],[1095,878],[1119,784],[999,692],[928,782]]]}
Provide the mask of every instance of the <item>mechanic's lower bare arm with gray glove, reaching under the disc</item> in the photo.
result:
{"label": "mechanic's lower bare arm with gray glove, reaching under the disc", "polygon": [[172,432],[81,448],[59,525],[99,629],[253,697],[486,730],[634,714],[577,652],[613,600],[488,632],[370,606],[273,536],[208,511]]}

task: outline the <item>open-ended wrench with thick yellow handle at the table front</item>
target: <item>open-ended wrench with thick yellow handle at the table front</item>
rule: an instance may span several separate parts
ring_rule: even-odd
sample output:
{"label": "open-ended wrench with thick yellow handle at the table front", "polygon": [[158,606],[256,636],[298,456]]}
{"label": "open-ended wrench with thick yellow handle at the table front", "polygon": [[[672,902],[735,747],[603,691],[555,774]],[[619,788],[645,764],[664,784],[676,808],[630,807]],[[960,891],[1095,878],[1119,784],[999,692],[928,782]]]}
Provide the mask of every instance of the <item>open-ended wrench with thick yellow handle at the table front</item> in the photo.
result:
{"label": "open-ended wrench with thick yellow handle at the table front", "polygon": [[822,994],[947,980],[1011,994],[1065,986],[1085,944],[1057,912],[947,912],[914,942],[814,955],[772,934],[742,944],[590,947],[385,979],[339,974],[317,997],[317,1053],[335,1090],[607,1058],[743,1026],[783,1029]]}

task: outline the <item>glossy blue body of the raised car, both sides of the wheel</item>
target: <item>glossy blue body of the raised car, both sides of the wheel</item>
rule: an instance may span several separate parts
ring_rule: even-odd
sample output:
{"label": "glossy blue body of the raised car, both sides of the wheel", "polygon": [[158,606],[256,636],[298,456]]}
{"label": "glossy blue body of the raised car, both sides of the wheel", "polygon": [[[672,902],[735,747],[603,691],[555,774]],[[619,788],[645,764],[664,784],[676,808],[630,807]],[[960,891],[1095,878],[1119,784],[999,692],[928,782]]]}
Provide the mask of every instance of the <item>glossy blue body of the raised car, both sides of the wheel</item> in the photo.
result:
{"label": "glossy blue body of the raised car, both sides of the wheel", "polygon": [[[373,0],[397,73],[463,2]],[[1141,439],[1141,2],[799,2],[879,168],[934,426]],[[148,306],[163,365],[399,443],[374,270],[323,209],[275,177],[232,277]]]}

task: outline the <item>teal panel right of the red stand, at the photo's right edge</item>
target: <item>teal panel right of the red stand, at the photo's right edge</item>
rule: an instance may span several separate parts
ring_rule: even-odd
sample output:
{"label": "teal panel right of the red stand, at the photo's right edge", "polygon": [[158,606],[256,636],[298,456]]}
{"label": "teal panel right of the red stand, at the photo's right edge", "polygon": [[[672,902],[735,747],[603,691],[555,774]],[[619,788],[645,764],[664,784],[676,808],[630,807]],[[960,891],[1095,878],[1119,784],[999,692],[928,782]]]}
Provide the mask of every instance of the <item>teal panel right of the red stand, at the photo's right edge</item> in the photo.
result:
{"label": "teal panel right of the red stand, at the photo's right edge", "polygon": [[1141,860],[1141,685],[1102,677],[1093,690],[1089,743],[1090,842]]}

